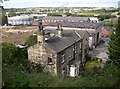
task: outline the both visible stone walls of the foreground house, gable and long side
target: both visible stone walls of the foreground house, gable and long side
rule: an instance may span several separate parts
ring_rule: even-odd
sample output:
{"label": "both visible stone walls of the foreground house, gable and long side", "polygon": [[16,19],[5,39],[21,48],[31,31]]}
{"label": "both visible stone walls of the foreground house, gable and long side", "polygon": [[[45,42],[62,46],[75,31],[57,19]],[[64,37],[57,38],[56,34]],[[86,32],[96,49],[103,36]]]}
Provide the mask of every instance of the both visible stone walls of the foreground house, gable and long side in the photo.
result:
{"label": "both visible stone walls of the foreground house, gable and long side", "polygon": [[[86,38],[85,38],[86,39]],[[50,72],[51,75],[61,76],[62,70],[65,70],[65,76],[67,75],[68,63],[75,58],[78,62],[81,62],[82,56],[82,41],[79,40],[75,44],[69,46],[59,53],[55,53],[45,44],[36,44],[28,48],[28,59],[31,62],[41,64],[44,71]],[[86,42],[85,42],[86,43]],[[76,52],[74,53],[74,45]],[[65,61],[61,62],[62,55],[65,54]],[[48,64],[48,58],[52,59],[52,64]]]}

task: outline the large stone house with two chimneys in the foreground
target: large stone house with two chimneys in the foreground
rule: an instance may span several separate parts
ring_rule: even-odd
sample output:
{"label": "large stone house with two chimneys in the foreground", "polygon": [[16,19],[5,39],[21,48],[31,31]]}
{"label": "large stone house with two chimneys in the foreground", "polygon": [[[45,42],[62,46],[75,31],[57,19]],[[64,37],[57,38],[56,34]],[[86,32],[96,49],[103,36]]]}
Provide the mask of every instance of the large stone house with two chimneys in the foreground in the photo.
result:
{"label": "large stone house with two chimneys in the foreground", "polygon": [[[82,39],[87,32],[82,35],[79,33],[64,30],[62,25],[58,25],[52,32],[43,30],[42,26],[39,27],[38,42],[28,48],[28,59],[33,63],[41,64],[44,70],[52,75],[79,76],[80,66],[84,63],[84,55],[88,50],[89,39],[87,36]],[[85,52],[83,48],[86,48]]]}

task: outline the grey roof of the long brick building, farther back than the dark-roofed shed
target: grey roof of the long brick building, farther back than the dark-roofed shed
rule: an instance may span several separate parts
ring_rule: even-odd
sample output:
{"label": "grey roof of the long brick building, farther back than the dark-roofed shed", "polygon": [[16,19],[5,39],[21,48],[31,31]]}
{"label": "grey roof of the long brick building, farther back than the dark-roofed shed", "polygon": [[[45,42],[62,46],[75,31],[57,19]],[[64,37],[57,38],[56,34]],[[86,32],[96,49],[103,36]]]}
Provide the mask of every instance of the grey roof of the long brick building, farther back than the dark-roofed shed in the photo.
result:
{"label": "grey roof of the long brick building, farther back than the dark-roofed shed", "polygon": [[89,17],[46,16],[42,20],[80,20],[80,21],[88,21]]}

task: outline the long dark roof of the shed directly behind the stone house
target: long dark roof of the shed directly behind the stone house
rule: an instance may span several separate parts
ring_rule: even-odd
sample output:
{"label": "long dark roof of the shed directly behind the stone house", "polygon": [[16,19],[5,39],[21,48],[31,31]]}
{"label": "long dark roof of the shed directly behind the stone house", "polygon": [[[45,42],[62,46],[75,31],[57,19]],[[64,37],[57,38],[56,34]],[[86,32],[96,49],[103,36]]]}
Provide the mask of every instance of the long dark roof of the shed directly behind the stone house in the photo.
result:
{"label": "long dark roof of the shed directly behind the stone house", "polygon": [[57,26],[57,24],[62,24],[62,27],[77,27],[77,28],[90,28],[97,29],[101,23],[92,23],[92,22],[50,22],[44,26]]}

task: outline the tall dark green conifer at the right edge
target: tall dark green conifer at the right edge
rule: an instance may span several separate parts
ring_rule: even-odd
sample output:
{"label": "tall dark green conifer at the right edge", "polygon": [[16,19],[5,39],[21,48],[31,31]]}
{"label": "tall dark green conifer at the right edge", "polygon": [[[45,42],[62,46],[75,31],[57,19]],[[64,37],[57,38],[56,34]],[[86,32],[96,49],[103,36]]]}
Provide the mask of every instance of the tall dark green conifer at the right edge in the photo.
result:
{"label": "tall dark green conifer at the right edge", "polygon": [[111,33],[108,53],[110,60],[115,64],[120,64],[120,18],[115,30]]}

